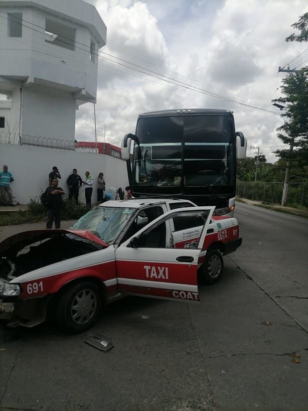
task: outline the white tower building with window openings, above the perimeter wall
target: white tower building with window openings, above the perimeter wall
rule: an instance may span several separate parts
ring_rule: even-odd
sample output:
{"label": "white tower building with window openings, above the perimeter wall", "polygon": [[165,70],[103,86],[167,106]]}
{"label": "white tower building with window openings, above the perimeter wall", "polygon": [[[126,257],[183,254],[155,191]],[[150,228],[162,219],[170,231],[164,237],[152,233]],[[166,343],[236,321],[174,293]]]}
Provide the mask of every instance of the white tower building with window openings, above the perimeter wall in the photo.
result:
{"label": "white tower building with window openings, above the perimeter wall", "polygon": [[96,101],[104,22],[82,0],[1,0],[0,6],[0,94],[10,100],[0,101],[0,135],[10,143],[20,135],[25,143],[29,136],[58,139],[73,148],[75,110]]}

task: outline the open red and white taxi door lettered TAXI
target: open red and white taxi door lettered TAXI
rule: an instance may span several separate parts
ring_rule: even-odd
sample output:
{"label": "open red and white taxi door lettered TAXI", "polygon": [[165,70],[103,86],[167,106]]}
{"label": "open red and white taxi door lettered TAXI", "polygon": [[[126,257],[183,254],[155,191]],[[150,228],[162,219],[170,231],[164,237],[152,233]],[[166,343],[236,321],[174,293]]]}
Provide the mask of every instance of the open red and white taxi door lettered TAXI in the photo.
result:
{"label": "open red and white taxi door lettered TAXI", "polygon": [[[189,207],[169,211],[123,242],[115,251],[118,290],[143,297],[200,301],[198,259],[214,208]],[[190,216],[204,219],[197,248],[167,248],[172,243],[170,220]],[[165,235],[164,241],[162,234]]]}

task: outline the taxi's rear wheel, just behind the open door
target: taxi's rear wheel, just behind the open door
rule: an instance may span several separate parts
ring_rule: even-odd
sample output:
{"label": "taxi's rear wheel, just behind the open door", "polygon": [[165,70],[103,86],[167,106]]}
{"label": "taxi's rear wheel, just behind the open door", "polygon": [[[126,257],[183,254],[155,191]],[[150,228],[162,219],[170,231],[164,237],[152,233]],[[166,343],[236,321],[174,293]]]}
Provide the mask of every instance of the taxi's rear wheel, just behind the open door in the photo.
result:
{"label": "taxi's rear wheel, just behind the open door", "polygon": [[203,284],[217,283],[223,273],[224,260],[219,250],[209,250],[199,272]]}

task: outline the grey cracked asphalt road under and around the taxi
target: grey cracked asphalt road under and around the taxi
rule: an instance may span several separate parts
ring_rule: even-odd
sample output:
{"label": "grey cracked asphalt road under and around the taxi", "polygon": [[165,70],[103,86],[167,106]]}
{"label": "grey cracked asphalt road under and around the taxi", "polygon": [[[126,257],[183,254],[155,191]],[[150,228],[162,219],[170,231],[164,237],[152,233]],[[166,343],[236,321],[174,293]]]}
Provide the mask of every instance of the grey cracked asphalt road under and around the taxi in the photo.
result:
{"label": "grey cracked asphalt road under and around the taxi", "polygon": [[0,329],[0,409],[306,410],[308,220],[236,210],[243,244],[201,304],[126,298],[75,336]]}

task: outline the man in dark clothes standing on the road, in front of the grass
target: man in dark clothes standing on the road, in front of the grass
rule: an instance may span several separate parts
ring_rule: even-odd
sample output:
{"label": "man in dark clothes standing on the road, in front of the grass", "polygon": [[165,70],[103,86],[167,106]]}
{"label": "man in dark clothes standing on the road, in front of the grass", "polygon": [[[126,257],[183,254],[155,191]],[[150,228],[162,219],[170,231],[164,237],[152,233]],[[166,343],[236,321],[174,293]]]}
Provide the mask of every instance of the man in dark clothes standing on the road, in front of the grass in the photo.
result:
{"label": "man in dark clothes standing on the road, in front of the grass", "polygon": [[58,179],[54,178],[51,186],[46,190],[48,195],[46,228],[52,228],[53,222],[55,222],[55,228],[60,228],[62,196],[65,192],[58,187],[58,183]]}

